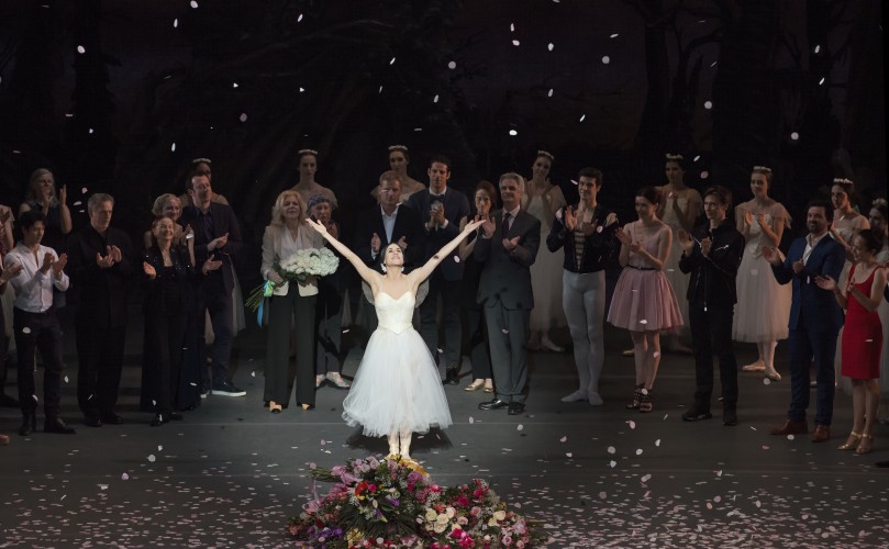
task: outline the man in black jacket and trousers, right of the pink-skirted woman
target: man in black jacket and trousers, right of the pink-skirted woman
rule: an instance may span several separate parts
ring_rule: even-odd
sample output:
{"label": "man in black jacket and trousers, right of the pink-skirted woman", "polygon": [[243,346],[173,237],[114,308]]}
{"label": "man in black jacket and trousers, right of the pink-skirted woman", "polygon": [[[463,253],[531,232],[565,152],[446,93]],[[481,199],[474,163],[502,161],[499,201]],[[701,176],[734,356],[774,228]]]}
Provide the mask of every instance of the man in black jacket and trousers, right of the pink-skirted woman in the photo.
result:
{"label": "man in black jacket and trousers, right of the pink-skirted woman", "polygon": [[694,404],[685,414],[686,422],[710,419],[713,392],[713,350],[720,360],[722,382],[722,424],[737,425],[737,361],[732,346],[732,320],[737,302],[735,277],[744,251],[744,236],[725,220],[732,206],[732,192],[720,186],[704,192],[707,225],[694,235],[679,231],[682,257],[679,269],[690,272],[688,315],[694,348]]}

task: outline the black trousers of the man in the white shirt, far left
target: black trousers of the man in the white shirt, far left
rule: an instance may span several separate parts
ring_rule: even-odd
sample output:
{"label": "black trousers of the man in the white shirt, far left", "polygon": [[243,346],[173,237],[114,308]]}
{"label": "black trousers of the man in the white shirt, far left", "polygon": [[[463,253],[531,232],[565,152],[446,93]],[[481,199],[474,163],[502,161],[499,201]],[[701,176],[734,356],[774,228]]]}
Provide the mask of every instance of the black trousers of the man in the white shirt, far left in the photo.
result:
{"label": "black trousers of the man in the white shirt, far left", "polygon": [[37,410],[34,384],[34,351],[43,357],[43,410],[47,419],[59,415],[62,394],[62,329],[54,309],[44,313],[29,313],[19,307],[12,310],[12,326],[15,328],[15,347],[19,356],[19,402],[22,414],[31,415]]}

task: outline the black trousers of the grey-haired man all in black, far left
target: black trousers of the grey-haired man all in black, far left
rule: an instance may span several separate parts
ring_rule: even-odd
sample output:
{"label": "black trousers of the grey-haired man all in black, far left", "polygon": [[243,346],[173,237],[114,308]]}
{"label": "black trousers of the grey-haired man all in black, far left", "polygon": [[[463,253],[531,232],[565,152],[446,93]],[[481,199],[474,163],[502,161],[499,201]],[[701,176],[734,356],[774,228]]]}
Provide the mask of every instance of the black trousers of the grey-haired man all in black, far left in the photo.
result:
{"label": "black trousers of the grey-haired man all in black, far left", "polygon": [[96,322],[86,315],[76,318],[77,404],[86,416],[110,414],[121,386],[126,325],[109,326],[107,318]]}

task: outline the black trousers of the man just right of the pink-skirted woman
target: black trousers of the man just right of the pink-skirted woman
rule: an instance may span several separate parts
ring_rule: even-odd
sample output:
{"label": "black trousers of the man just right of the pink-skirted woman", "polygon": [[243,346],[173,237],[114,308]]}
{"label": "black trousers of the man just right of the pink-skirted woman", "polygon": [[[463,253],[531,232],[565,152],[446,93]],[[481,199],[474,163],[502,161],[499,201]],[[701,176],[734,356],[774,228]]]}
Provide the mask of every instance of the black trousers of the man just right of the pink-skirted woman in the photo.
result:
{"label": "black trousers of the man just right of the pink-skirted woman", "polygon": [[691,322],[691,345],[694,348],[694,403],[710,411],[713,393],[713,351],[720,361],[723,404],[737,403],[737,360],[732,344],[734,305],[688,304]]}

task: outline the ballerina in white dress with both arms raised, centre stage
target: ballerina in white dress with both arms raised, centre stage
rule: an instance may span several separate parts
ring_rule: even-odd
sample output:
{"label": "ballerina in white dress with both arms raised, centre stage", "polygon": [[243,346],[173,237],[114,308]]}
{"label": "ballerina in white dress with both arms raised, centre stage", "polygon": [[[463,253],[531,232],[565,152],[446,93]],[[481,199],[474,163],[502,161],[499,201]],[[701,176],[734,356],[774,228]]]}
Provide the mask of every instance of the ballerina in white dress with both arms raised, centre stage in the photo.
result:
{"label": "ballerina in white dress with both arms raised, centre stage", "polygon": [[402,272],[404,253],[398,244],[386,247],[380,266],[384,272],[379,273],[332,238],[324,225],[311,220],[309,223],[370,285],[379,318],[377,329],[367,341],[352,390],[343,401],[343,419],[351,426],[360,424],[367,436],[388,436],[390,456],[410,459],[414,432],[426,433],[432,426],[444,428],[451,425],[451,411],[435,360],[411,324],[416,290],[442,259],[449,257],[457,245],[481,225],[481,221],[467,224],[425,265],[407,274]]}

